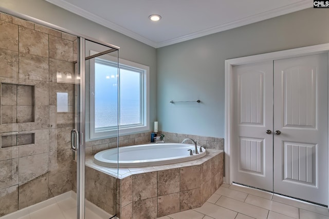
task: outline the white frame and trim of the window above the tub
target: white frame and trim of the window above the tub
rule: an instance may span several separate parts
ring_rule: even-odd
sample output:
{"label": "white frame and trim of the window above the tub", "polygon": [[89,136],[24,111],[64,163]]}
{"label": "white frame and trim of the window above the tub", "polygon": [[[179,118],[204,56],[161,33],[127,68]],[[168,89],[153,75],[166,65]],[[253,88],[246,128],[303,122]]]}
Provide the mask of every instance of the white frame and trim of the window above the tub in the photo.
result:
{"label": "white frame and trim of the window above the tub", "polygon": [[[98,52],[90,50],[90,55],[97,54]],[[117,63],[118,58],[111,55],[103,55],[102,59],[106,61]],[[150,67],[142,64],[127,61],[119,58],[119,69],[135,69],[141,72],[141,104],[142,109],[140,112],[141,124],[139,125],[122,125],[119,126],[119,135],[127,135],[138,132],[150,130]],[[119,70],[120,71],[120,70]],[[89,90],[89,140],[98,140],[102,138],[115,137],[118,132],[117,129],[102,129],[95,130],[95,58],[90,59],[90,74],[89,74],[90,90]],[[120,76],[120,73],[119,73]],[[119,84],[119,81],[118,81]],[[120,86],[120,85],[118,85]],[[120,113],[119,113],[120,114]],[[120,118],[118,117],[120,120]]]}

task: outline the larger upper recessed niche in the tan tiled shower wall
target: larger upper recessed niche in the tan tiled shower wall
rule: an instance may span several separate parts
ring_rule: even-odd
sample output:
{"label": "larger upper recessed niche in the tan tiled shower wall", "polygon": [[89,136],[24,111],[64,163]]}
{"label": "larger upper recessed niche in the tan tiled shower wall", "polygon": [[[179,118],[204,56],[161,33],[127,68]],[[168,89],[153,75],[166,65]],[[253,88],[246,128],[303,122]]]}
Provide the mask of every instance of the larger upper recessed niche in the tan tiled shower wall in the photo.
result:
{"label": "larger upper recessed niche in the tan tiled shower wall", "polygon": [[1,83],[1,124],[34,122],[34,86]]}

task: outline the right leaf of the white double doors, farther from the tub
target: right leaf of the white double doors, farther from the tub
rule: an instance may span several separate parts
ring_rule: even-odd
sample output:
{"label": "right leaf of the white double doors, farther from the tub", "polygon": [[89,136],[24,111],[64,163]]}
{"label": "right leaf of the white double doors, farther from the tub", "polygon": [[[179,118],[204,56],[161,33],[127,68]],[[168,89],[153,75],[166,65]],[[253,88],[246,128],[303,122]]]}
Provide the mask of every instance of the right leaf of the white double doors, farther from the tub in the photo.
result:
{"label": "right leaf of the white double doors, farther from the tub", "polygon": [[274,191],[327,205],[328,54],[274,61]]}

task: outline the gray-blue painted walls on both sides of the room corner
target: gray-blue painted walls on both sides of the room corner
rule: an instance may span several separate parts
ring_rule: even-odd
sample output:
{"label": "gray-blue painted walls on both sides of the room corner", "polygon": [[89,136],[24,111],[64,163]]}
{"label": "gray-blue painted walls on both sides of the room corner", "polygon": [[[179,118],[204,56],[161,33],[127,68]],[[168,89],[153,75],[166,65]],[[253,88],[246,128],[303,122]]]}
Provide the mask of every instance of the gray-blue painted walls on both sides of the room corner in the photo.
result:
{"label": "gray-blue painted walls on both sides of the room corner", "polygon": [[[224,137],[225,59],[329,43],[329,13],[309,8],[155,49],[43,0],[0,7],[119,46],[121,58],[150,66],[150,121],[159,130]],[[171,100],[202,103],[170,104]]]}

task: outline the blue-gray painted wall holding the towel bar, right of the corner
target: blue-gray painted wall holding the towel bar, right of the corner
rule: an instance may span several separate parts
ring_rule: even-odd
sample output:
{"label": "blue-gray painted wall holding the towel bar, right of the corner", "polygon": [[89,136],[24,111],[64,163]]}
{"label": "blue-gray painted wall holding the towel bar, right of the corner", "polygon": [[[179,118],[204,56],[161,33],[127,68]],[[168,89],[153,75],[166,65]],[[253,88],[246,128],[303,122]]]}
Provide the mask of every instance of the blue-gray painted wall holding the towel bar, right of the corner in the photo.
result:
{"label": "blue-gray painted wall holding the towel bar, right of the corner", "polygon": [[224,137],[225,59],[329,43],[328,12],[309,8],[157,49],[159,130]]}

